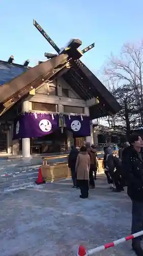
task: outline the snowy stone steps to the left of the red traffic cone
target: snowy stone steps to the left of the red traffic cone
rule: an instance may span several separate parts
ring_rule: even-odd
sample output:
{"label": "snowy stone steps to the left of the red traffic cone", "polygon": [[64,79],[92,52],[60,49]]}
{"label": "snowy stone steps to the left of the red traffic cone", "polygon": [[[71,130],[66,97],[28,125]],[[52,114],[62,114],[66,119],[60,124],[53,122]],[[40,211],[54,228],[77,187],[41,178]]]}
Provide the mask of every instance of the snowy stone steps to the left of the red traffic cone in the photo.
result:
{"label": "snowy stone steps to the left of the red traffic cone", "polygon": [[[59,161],[65,161],[65,159],[59,159]],[[42,163],[43,158],[41,157],[0,160],[0,194],[34,186],[38,178],[38,169]],[[55,160],[51,159],[49,163],[55,163]]]}

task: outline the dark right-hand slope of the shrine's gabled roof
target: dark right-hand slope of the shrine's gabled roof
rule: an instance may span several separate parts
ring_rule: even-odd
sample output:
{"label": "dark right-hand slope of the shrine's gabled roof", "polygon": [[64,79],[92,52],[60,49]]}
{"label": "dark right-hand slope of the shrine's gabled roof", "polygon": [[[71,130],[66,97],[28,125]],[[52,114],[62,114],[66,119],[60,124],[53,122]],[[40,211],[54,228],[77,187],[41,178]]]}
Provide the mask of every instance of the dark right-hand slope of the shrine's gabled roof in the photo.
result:
{"label": "dark right-hand slope of the shrine's gabled roof", "polygon": [[99,104],[90,107],[92,119],[114,115],[121,110],[117,100],[80,60],[63,77],[82,99],[98,97]]}

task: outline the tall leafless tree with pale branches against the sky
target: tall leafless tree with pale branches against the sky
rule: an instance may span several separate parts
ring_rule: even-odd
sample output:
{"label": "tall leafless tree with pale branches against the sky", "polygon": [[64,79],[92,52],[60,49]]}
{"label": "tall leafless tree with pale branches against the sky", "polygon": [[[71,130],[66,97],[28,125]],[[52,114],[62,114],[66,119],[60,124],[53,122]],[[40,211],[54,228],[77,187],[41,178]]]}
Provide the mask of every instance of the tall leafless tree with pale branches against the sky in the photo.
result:
{"label": "tall leafless tree with pale branches against the sky", "polygon": [[105,74],[113,84],[113,89],[123,84],[131,88],[134,97],[134,114],[138,115],[138,122],[143,125],[143,42],[138,45],[124,45],[119,58],[111,54]]}

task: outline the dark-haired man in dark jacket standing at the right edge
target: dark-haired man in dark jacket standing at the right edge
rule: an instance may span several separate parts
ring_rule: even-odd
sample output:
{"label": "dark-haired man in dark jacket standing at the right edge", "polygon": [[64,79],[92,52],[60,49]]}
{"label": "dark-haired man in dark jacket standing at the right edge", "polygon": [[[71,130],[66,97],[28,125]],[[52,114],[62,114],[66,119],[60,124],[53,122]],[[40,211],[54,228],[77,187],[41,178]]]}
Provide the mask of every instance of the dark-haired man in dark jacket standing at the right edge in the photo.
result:
{"label": "dark-haired man in dark jacket standing at the right edge", "polygon": [[[138,135],[130,138],[130,147],[122,154],[122,167],[127,183],[127,193],[132,200],[132,233],[143,229],[143,154],[142,139]],[[136,255],[143,256],[140,237],[132,240],[132,248]]]}

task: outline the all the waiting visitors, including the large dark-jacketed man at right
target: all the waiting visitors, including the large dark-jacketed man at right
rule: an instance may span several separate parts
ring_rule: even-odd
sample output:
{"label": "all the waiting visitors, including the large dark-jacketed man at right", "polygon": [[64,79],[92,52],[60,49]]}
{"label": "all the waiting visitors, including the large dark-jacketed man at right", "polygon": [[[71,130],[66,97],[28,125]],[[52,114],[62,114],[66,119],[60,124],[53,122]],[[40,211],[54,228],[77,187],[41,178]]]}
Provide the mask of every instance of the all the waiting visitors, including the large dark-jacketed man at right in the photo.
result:
{"label": "all the waiting visitors, including the large dark-jacketed man at right", "polygon": [[[73,187],[80,188],[80,198],[89,197],[89,189],[95,188],[97,152],[90,143],[81,146],[80,152],[73,146],[68,160]],[[143,141],[132,135],[130,141],[119,150],[119,157],[113,156],[110,147],[104,147],[104,172],[112,191],[121,192],[127,186],[132,201],[131,233],[143,230]],[[140,242],[142,237],[132,240],[132,249],[137,256],[143,256]]]}

